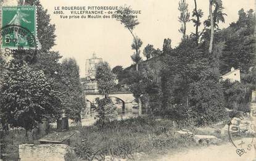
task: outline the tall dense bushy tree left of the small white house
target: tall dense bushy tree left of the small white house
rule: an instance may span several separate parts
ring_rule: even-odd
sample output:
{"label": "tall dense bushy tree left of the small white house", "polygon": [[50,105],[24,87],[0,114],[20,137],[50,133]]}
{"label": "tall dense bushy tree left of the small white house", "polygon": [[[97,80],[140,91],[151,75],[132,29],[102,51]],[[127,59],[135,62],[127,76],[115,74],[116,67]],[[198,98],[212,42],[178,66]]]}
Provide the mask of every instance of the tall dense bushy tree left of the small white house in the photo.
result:
{"label": "tall dense bushy tree left of the small white house", "polygon": [[189,106],[196,115],[197,125],[207,125],[225,120],[222,87],[219,83],[216,62],[202,61],[197,64],[198,78],[189,84]]}

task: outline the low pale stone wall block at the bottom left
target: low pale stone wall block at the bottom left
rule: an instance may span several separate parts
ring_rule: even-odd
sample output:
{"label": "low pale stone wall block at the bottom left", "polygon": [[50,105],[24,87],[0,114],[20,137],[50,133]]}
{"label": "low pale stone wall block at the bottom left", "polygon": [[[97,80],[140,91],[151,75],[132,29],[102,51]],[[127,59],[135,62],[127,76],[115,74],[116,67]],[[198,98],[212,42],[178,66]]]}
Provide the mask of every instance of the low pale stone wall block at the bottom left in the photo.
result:
{"label": "low pale stone wall block at the bottom left", "polygon": [[21,144],[20,161],[76,161],[73,149],[65,144]]}

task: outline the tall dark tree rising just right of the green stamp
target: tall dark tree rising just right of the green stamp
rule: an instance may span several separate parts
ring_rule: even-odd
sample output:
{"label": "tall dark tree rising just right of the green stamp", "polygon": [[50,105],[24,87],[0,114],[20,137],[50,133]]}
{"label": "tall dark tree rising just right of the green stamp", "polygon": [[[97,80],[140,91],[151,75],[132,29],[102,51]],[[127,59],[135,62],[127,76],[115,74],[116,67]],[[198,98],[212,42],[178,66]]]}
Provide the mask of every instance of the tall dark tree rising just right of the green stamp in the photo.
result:
{"label": "tall dark tree rising just right of the green stamp", "polygon": [[[36,52],[36,55],[32,62],[30,62],[31,67],[35,70],[43,70],[44,74],[47,76],[47,79],[54,79],[52,85],[54,90],[57,91],[62,98],[65,96],[64,86],[67,86],[62,79],[62,66],[60,64],[60,54],[59,52],[50,51],[55,45],[55,25],[51,24],[51,17],[47,13],[47,9],[41,5],[39,0],[26,0],[20,2],[22,5],[31,5],[36,6],[37,9],[37,39],[41,44],[41,49]],[[59,108],[63,108],[64,99],[62,99]]]}

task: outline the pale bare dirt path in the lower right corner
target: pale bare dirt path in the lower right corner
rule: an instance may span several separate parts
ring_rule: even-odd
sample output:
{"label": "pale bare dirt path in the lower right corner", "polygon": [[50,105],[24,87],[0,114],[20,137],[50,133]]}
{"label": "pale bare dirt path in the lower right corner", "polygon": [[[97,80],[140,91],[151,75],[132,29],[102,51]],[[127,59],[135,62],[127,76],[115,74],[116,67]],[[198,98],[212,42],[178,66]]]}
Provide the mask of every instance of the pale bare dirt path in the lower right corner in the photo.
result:
{"label": "pale bare dirt path in the lower right corner", "polygon": [[[247,142],[251,142],[251,138],[242,139],[246,144],[242,148],[246,149]],[[235,141],[235,143],[241,140]],[[255,144],[255,142],[254,142]],[[141,160],[173,160],[173,161],[252,161],[256,160],[256,150],[254,147],[247,153],[242,154],[241,157],[236,154],[236,147],[230,142],[220,145],[210,145],[207,147],[197,147],[196,149],[187,149],[181,152],[169,151],[164,155],[148,155]]]}

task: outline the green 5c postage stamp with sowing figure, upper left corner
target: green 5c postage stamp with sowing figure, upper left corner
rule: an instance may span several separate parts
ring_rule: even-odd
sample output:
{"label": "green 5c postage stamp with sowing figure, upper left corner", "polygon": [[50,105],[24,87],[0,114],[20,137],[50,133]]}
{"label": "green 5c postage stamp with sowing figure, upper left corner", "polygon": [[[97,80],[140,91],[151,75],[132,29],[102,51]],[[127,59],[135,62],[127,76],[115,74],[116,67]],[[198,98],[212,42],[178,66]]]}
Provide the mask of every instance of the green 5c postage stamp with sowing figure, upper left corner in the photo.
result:
{"label": "green 5c postage stamp with sowing figure, upper left corner", "polygon": [[1,7],[1,48],[36,48],[36,7]]}

